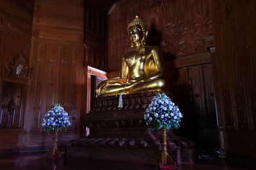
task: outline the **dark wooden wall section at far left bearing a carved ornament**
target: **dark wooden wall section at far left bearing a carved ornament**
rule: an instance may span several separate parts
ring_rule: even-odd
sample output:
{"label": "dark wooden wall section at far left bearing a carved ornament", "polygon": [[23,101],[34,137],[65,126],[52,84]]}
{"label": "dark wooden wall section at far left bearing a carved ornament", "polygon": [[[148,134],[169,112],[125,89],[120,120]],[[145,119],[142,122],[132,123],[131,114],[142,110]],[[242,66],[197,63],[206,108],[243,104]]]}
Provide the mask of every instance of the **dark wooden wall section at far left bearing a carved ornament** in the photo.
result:
{"label": "dark wooden wall section at far left bearing a carved ornament", "polygon": [[24,127],[32,11],[30,0],[0,1],[0,150],[17,150]]}

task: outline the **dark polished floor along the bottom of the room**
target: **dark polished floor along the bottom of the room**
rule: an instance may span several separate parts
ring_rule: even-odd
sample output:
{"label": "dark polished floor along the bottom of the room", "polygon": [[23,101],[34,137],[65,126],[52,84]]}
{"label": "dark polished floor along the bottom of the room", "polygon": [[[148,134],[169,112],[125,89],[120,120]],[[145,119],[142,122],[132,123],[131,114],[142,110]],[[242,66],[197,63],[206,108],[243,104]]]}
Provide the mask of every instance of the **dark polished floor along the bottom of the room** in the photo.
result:
{"label": "dark polished floor along the bottom of the room", "polygon": [[[147,164],[134,164],[132,162],[120,162],[115,160],[96,160],[96,159],[71,159],[61,157],[56,164],[46,158],[45,152],[40,153],[20,153],[20,155],[6,155],[0,157],[0,169],[26,169],[26,170],[39,170],[39,169],[157,169],[154,165]],[[228,165],[224,159],[216,160],[200,160],[194,164],[178,165],[179,170],[230,170],[230,169],[255,169],[247,164],[243,165]]]}

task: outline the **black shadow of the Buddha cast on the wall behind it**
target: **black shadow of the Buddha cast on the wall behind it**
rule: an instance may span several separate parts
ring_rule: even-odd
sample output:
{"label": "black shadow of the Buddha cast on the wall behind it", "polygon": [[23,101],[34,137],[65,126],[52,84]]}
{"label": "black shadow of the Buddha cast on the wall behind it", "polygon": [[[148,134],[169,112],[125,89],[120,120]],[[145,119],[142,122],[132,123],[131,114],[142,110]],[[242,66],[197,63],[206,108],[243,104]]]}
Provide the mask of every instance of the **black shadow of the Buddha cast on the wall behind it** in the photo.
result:
{"label": "black shadow of the Buddha cast on the wall behind it", "polygon": [[[152,46],[161,46],[161,42],[163,41],[162,33],[157,30],[156,20],[152,18],[150,20],[150,27],[147,36],[147,45]],[[178,69],[175,68],[174,60],[175,53],[166,52],[162,50],[163,53],[163,66],[164,66],[164,80],[166,81],[166,90],[168,90],[171,94],[175,104],[177,104],[184,115],[182,118],[182,122],[180,124],[180,129],[175,132],[178,136],[182,136],[184,138],[189,138],[195,141],[195,134],[193,131],[193,104],[189,98],[189,87],[187,84],[180,84],[179,81],[179,73]]]}

